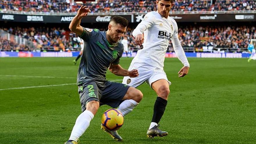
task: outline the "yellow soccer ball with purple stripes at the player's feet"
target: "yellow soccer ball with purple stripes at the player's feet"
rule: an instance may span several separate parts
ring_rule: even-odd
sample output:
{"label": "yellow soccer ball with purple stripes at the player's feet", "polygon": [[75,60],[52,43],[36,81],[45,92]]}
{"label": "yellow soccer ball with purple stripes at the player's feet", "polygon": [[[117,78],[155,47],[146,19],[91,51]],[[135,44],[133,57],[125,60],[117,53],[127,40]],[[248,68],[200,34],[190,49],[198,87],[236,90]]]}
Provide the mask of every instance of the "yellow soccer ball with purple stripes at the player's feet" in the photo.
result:
{"label": "yellow soccer ball with purple stripes at the player's feet", "polygon": [[103,113],[101,123],[106,129],[116,131],[124,124],[124,116],[117,109],[109,109]]}

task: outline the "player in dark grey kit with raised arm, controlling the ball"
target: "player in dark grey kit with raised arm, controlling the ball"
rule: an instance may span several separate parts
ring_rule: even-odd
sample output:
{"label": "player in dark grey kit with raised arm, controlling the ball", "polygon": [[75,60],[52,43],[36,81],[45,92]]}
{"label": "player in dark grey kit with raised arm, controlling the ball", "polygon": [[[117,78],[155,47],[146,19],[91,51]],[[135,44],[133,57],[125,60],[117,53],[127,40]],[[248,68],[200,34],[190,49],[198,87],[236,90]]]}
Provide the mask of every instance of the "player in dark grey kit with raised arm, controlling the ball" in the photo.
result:
{"label": "player in dark grey kit with raised arm, controlling the ball", "polygon": [[[108,69],[118,76],[138,77],[137,70],[128,71],[119,65],[124,48],[118,40],[126,31],[127,19],[113,17],[106,32],[83,28],[80,22],[88,12],[90,10],[86,6],[81,6],[69,26],[72,32],[84,40],[85,48],[77,74],[82,113],[78,116],[70,138],[65,144],[77,144],[78,138],[89,127],[90,121],[97,113],[99,105],[107,104],[113,108],[119,106],[119,110],[125,115],[123,109],[133,109],[143,97],[141,91],[136,88],[106,81]],[[122,141],[116,131],[107,132],[114,139]]]}

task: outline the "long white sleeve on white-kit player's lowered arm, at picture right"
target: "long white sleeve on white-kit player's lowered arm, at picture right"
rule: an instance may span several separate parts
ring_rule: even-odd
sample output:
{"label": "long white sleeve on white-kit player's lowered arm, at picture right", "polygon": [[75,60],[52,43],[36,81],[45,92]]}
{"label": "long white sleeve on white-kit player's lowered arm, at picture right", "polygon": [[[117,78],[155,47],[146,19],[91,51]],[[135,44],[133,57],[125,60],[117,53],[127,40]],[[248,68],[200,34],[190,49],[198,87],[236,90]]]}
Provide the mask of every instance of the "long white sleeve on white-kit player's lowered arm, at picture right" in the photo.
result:
{"label": "long white sleeve on white-kit player's lowered arm, at picture right", "polygon": [[[174,21],[175,22],[175,21]],[[172,43],[173,43],[173,49],[175,51],[175,54],[177,56],[177,58],[179,59],[179,61],[182,62],[182,64],[186,67],[190,67],[189,65],[189,61],[185,55],[185,52],[180,44],[179,41],[179,37],[178,37],[178,26],[177,23],[175,22],[174,25],[174,33],[173,33],[173,37],[171,38]]]}

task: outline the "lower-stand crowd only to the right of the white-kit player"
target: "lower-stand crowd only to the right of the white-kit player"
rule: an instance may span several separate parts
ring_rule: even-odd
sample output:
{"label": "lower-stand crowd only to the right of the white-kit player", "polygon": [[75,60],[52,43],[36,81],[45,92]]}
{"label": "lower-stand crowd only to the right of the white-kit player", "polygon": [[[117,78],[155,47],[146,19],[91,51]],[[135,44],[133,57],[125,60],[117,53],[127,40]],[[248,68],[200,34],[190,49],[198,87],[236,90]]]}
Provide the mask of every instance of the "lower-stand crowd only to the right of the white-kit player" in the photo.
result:
{"label": "lower-stand crowd only to the right of the white-kit player", "polygon": [[193,26],[179,28],[179,39],[183,47],[247,48],[250,40],[255,38],[256,29],[254,26]]}

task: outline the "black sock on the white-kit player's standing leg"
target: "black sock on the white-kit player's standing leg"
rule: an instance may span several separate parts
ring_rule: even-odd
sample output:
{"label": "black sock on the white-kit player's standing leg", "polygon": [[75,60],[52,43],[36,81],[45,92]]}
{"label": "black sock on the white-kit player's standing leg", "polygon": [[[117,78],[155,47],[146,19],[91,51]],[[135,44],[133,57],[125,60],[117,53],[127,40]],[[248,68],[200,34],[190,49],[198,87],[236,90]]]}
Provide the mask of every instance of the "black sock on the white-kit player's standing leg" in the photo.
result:
{"label": "black sock on the white-kit player's standing leg", "polygon": [[165,107],[167,105],[167,100],[161,98],[161,97],[157,97],[155,105],[154,105],[154,113],[153,113],[153,117],[152,117],[152,121],[151,122],[155,122],[155,123],[159,123],[159,121],[161,120]]}

